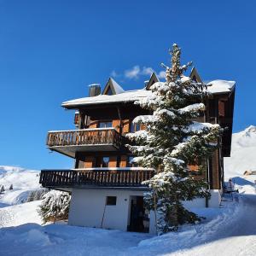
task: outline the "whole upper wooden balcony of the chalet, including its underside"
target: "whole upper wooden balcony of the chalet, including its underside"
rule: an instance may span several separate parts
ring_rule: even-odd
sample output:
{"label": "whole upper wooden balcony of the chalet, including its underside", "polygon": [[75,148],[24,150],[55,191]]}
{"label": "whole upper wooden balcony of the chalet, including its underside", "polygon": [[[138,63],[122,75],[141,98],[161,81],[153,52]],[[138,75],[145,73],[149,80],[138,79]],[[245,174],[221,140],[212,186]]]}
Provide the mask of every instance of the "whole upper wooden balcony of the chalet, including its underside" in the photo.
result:
{"label": "whole upper wooden balcony of the chalet, including its underside", "polygon": [[51,150],[75,157],[78,151],[119,150],[122,136],[114,128],[72,131],[49,131],[47,146]]}

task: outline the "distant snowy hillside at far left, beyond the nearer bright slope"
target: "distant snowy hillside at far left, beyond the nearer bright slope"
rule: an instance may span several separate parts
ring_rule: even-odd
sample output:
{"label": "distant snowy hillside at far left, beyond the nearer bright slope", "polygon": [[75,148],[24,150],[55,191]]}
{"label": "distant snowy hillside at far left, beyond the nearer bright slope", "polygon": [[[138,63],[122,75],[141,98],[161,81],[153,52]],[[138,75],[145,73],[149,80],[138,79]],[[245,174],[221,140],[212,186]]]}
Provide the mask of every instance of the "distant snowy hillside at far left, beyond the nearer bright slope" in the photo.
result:
{"label": "distant snowy hillside at far left, beyond the nearer bright slope", "polygon": [[[30,191],[40,187],[39,173],[20,167],[0,166],[0,186],[5,188],[5,192],[0,195],[0,207],[25,202]],[[13,190],[9,190],[11,184]]]}

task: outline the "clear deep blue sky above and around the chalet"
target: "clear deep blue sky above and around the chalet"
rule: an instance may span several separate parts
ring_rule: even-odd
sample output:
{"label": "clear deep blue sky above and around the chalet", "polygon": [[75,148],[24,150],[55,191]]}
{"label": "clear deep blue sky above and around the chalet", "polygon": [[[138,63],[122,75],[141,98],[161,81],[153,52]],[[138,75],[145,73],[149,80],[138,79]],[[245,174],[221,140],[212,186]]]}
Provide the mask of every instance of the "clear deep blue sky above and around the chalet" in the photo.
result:
{"label": "clear deep blue sky above and around the chalet", "polygon": [[236,80],[234,131],[256,125],[255,9],[254,1],[0,0],[0,165],[72,167],[45,147],[47,131],[74,128],[61,102],[110,74],[126,90],[143,87],[148,67],[160,73],[169,63],[173,43],[203,79]]}

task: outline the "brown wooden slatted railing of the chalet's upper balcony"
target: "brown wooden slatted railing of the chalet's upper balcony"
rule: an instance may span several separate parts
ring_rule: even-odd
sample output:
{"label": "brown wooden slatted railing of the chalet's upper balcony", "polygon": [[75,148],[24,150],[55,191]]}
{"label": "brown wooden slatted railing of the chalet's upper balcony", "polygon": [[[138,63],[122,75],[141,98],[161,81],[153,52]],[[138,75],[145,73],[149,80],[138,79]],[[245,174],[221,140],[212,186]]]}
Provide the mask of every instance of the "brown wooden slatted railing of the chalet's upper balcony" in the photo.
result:
{"label": "brown wooden slatted railing of the chalet's upper balcony", "polygon": [[72,131],[49,131],[46,144],[49,147],[88,144],[121,145],[121,135],[113,128],[84,129]]}

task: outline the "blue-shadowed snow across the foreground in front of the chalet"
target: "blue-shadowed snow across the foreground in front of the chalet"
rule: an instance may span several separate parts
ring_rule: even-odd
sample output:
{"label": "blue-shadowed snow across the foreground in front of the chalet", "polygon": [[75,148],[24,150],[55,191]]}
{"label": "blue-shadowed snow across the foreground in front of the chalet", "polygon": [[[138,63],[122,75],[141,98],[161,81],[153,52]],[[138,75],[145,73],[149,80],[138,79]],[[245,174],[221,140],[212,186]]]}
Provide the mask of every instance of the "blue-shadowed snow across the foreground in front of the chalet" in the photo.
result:
{"label": "blue-shadowed snow across the foreground in front of the chalet", "polygon": [[[31,203],[29,203],[31,204]],[[218,211],[219,210],[219,211]],[[201,210],[203,211],[203,210]],[[231,203],[222,209],[208,208],[198,212],[209,219],[197,225],[184,226],[181,232],[164,236],[143,233],[100,230],[59,224],[40,226],[24,224],[0,229],[3,255],[175,255],[217,241],[219,234],[241,215],[241,207]],[[232,218],[230,218],[232,216]],[[15,242],[14,242],[15,241]],[[10,249],[11,248],[11,249]],[[195,255],[203,255],[200,252]]]}

